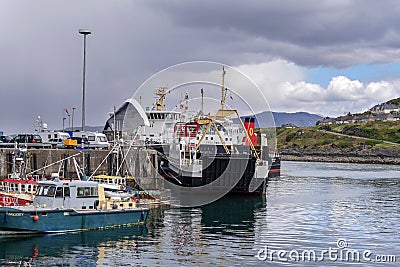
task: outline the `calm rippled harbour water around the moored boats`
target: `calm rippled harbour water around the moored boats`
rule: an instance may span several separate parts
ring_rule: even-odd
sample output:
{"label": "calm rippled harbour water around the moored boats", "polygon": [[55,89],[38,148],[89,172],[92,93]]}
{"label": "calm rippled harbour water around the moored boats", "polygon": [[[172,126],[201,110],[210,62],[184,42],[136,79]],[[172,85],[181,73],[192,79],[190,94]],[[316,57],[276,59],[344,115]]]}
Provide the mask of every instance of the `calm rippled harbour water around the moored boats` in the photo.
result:
{"label": "calm rippled harbour water around the moored boats", "polygon": [[400,166],[283,162],[282,174],[265,199],[155,210],[146,226],[0,237],[0,265],[400,265]]}

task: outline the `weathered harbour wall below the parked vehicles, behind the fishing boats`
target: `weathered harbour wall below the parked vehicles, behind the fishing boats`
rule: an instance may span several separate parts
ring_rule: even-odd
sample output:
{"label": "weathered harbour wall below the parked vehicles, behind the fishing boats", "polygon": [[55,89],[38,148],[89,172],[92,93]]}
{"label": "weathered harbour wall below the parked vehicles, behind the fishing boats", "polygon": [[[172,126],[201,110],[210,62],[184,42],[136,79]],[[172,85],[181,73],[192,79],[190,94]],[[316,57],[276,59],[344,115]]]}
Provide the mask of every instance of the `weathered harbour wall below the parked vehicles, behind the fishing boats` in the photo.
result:
{"label": "weathered harbour wall below the parked vehicles, behind the fishing boats", "polygon": [[[75,155],[75,156],[74,156]],[[74,156],[74,157],[71,157]],[[66,158],[70,157],[67,160]],[[76,163],[74,163],[75,158]],[[129,164],[125,164],[129,162]],[[153,166],[157,166],[156,151],[143,147],[133,148],[126,161],[122,153],[110,153],[110,150],[74,150],[74,149],[43,149],[15,148],[0,149],[0,179],[7,177],[13,171],[25,169],[26,173],[50,177],[59,173],[62,177],[76,177],[77,170],[85,168],[86,175],[108,174],[115,175],[119,169],[120,175],[130,175],[138,178],[157,176]]]}

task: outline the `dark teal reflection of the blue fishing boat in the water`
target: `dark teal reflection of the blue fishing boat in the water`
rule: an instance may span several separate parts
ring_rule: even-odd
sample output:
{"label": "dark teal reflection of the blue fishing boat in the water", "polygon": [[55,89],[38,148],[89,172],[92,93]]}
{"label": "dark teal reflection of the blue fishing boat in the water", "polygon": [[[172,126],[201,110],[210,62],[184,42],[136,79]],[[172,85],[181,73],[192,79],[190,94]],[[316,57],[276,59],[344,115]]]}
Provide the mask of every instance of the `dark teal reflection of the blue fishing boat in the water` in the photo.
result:
{"label": "dark teal reflection of the blue fishing boat in the water", "polygon": [[145,225],[69,234],[2,236],[0,263],[30,265],[96,266],[107,248],[137,252],[138,237],[147,233]]}

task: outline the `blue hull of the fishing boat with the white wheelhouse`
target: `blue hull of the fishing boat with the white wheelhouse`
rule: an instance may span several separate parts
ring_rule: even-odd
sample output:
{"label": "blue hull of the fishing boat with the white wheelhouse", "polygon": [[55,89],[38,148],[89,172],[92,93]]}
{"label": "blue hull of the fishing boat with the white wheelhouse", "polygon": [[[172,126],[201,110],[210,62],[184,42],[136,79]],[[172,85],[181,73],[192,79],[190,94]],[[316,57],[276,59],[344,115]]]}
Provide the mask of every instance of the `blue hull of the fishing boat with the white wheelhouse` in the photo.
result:
{"label": "blue hull of the fishing boat with the white wheelhouse", "polygon": [[[57,233],[144,223],[147,209],[125,210],[23,210],[0,209],[0,231]],[[36,217],[37,216],[37,217]]]}

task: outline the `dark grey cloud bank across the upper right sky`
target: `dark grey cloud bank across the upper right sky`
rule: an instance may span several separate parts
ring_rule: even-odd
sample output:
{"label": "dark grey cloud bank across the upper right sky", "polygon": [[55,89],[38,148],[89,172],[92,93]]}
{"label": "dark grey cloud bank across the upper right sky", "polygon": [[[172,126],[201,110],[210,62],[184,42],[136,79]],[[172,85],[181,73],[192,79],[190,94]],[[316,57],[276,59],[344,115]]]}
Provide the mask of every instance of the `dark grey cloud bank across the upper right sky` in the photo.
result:
{"label": "dark grey cloud bank across the upper right sky", "polygon": [[[243,36],[236,43],[240,53],[336,67],[398,58],[397,1],[168,1],[153,6],[178,27],[214,31],[216,40],[229,32],[224,44],[235,44],[235,37]],[[260,39],[262,47],[240,45]],[[354,55],[360,48],[366,52]],[[388,57],[371,55],[378,49]]]}

